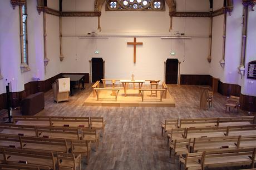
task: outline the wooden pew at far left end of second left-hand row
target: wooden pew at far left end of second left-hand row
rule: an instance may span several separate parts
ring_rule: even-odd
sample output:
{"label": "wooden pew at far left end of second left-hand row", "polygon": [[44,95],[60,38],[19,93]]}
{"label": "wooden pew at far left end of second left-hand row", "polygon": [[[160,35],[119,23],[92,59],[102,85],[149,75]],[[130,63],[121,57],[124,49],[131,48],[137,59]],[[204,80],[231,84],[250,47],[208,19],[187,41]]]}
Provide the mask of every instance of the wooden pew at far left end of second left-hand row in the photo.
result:
{"label": "wooden pew at far left end of second left-hand row", "polygon": [[38,136],[36,126],[0,123],[0,129],[2,129],[0,133],[4,134],[18,134],[20,136]]}

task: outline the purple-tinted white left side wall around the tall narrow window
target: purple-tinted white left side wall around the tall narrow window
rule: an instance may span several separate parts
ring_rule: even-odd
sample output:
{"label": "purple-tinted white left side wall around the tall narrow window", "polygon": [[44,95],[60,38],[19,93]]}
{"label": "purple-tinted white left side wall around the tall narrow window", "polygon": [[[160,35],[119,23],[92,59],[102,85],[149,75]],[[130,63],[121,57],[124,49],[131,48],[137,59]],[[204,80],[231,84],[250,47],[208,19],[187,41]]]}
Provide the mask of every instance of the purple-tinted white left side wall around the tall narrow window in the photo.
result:
{"label": "purple-tinted white left side wall around the tall narrow window", "polygon": [[[21,46],[19,38],[19,7],[12,8],[9,1],[0,1],[0,67],[4,77],[0,80],[0,94],[12,82],[12,91],[24,90],[24,84],[33,77],[44,79],[43,19],[36,9],[37,2],[27,0],[28,66],[31,71],[21,73]],[[7,79],[7,81],[6,81]]]}

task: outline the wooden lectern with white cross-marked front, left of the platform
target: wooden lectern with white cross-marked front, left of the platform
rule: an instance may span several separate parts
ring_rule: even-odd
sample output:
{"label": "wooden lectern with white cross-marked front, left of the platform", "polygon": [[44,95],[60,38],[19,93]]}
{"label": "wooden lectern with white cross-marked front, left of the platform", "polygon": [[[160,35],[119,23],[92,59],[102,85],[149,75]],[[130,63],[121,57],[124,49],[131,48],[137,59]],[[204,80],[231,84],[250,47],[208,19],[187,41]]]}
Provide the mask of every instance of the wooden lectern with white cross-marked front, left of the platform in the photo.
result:
{"label": "wooden lectern with white cross-marked front, left of the platform", "polygon": [[70,78],[59,78],[52,83],[54,101],[62,102],[70,99]]}

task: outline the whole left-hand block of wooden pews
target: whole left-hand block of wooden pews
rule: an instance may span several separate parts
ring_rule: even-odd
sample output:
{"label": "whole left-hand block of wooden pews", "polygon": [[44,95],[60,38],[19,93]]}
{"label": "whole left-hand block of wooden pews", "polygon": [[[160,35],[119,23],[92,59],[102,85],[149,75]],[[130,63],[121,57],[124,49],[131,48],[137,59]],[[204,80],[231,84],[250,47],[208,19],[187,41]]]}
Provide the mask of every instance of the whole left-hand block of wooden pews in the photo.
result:
{"label": "whole left-hand block of wooden pews", "polygon": [[81,157],[88,163],[91,143],[97,151],[98,130],[103,134],[105,127],[97,117],[21,116],[14,122],[0,124],[0,169],[81,169]]}

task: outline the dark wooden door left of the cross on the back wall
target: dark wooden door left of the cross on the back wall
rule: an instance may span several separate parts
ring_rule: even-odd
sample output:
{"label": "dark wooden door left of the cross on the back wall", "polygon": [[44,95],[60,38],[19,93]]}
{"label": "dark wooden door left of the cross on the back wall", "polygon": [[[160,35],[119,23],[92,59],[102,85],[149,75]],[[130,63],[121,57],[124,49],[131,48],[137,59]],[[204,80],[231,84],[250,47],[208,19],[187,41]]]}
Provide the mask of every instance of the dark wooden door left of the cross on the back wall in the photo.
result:
{"label": "dark wooden door left of the cross on the back wall", "polygon": [[104,78],[104,65],[102,58],[92,58],[92,82],[101,81]]}

